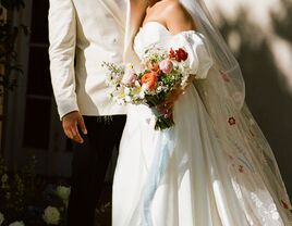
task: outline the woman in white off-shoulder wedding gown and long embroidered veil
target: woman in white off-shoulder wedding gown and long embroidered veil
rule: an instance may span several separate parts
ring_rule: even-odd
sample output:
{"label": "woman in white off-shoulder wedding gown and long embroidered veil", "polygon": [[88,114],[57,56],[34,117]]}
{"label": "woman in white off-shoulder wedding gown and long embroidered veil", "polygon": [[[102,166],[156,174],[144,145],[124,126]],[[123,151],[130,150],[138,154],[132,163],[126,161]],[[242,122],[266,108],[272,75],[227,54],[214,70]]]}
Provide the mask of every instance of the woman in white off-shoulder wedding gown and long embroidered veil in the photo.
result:
{"label": "woman in white off-shoulder wedding gown and long embroidered veil", "polygon": [[133,48],[143,59],[153,47],[186,50],[194,76],[159,106],[173,117],[169,129],[154,129],[146,105],[129,106],[113,226],[290,225],[276,159],[244,103],[238,62],[204,3],[149,0]]}

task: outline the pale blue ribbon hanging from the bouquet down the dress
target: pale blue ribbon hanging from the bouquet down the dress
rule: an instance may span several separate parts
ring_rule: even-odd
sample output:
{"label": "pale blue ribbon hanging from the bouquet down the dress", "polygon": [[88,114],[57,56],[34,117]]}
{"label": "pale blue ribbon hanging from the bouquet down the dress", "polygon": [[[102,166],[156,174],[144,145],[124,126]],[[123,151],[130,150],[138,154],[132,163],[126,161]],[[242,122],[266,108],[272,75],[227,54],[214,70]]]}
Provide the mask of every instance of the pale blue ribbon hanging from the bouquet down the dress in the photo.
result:
{"label": "pale blue ribbon hanging from the bouquet down the dress", "polygon": [[[134,211],[130,224],[131,226],[153,226],[151,204],[154,197],[159,185],[162,183],[163,175],[169,165],[169,160],[175,147],[173,128],[163,129],[158,133],[158,136],[160,137],[157,139],[158,143],[156,143],[154,159],[142,193],[142,200],[138,202],[137,209]],[[138,223],[135,221],[138,221]]]}

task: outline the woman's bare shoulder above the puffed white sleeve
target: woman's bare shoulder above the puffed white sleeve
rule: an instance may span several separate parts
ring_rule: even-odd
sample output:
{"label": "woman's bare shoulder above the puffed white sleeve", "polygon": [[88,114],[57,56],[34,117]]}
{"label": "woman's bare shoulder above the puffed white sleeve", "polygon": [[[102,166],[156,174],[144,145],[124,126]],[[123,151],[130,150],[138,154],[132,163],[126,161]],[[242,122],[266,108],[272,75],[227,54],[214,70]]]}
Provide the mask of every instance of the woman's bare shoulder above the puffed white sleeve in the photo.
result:
{"label": "woman's bare shoulder above the puffed white sleeve", "polygon": [[179,0],[165,0],[165,4],[166,24],[172,34],[196,29],[193,17]]}

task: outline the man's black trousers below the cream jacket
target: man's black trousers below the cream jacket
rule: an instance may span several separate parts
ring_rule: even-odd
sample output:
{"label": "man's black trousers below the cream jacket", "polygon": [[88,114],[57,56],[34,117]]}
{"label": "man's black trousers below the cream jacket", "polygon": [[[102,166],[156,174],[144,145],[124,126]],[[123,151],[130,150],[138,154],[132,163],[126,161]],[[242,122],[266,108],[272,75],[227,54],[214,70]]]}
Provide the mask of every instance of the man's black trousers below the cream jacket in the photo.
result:
{"label": "man's black trousers below the cream jacket", "polygon": [[84,143],[74,147],[68,226],[94,226],[95,209],[112,150],[119,148],[125,116],[114,115],[110,122],[84,116],[84,122],[88,134],[83,136]]}

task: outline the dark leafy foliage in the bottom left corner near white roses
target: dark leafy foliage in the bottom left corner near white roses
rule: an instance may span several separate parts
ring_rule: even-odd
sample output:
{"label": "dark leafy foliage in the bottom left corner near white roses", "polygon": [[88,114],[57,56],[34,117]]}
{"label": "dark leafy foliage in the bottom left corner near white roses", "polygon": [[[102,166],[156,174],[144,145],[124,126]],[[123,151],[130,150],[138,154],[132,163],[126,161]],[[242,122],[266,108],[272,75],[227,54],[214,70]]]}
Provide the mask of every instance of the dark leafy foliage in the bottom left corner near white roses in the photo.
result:
{"label": "dark leafy foliage in the bottom left corner near white roses", "polygon": [[37,176],[36,158],[31,160],[19,172],[10,172],[3,159],[0,158],[0,213],[4,215],[2,226],[15,221],[23,221],[29,226],[46,226],[45,210],[53,206],[60,213],[57,225],[65,225],[68,196],[64,197],[64,183],[52,178]]}

